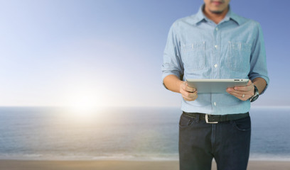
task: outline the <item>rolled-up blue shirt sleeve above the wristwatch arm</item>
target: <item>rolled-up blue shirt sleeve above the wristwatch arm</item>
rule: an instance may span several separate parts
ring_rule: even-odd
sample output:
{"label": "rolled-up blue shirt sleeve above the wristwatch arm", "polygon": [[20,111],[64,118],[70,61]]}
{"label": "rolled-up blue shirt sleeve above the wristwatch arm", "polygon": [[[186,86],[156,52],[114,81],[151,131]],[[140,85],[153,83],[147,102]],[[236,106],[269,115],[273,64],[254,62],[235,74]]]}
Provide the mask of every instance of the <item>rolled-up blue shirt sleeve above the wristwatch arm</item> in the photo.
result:
{"label": "rolled-up blue shirt sleeve above the wristwatch arm", "polygon": [[[261,77],[267,82],[267,86],[265,87],[264,91],[266,91],[269,85],[269,77],[267,71],[267,60],[266,60],[266,51],[264,47],[264,37],[262,33],[262,28],[257,23],[257,37],[254,40],[254,44],[252,47],[252,55],[250,60],[250,72],[249,72],[249,79],[255,79],[257,77]],[[264,93],[262,91],[261,94]]]}

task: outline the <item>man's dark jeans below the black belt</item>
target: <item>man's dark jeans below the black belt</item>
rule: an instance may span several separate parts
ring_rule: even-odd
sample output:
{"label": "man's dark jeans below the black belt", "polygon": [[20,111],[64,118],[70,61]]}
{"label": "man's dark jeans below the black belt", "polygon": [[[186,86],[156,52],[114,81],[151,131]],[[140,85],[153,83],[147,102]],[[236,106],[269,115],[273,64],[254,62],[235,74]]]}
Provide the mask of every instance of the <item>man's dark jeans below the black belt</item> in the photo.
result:
{"label": "man's dark jeans below the black belt", "polygon": [[245,170],[249,159],[251,119],[205,123],[183,113],[179,121],[180,170]]}

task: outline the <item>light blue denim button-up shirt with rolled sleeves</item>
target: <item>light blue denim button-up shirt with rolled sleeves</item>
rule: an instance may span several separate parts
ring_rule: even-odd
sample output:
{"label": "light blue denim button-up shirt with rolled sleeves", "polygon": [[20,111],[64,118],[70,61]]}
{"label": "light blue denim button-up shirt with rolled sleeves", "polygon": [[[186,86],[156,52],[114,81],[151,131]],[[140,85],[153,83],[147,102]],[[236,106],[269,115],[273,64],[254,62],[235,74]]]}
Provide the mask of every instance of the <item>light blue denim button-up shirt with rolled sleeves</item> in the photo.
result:
{"label": "light blue denim button-up shirt with rolled sleeves", "polygon": [[[169,74],[183,81],[262,77],[269,84],[261,26],[230,10],[215,24],[203,14],[202,6],[197,14],[178,19],[171,26],[162,72],[163,79]],[[225,115],[247,113],[250,108],[249,100],[241,101],[226,92],[182,100],[181,110],[186,112]]]}

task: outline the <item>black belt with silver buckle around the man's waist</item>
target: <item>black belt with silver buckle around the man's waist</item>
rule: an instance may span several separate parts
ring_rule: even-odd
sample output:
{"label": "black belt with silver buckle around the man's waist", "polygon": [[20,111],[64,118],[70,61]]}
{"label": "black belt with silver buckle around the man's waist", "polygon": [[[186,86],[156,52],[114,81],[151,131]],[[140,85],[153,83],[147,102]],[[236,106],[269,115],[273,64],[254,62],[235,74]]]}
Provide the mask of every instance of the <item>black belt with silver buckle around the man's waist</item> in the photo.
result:
{"label": "black belt with silver buckle around the man's waist", "polygon": [[228,120],[237,120],[240,118],[247,118],[249,112],[240,114],[228,114],[228,115],[209,115],[205,113],[188,113],[183,111],[183,114],[190,116],[191,118],[198,118],[199,120],[205,120],[206,123],[219,123]]}

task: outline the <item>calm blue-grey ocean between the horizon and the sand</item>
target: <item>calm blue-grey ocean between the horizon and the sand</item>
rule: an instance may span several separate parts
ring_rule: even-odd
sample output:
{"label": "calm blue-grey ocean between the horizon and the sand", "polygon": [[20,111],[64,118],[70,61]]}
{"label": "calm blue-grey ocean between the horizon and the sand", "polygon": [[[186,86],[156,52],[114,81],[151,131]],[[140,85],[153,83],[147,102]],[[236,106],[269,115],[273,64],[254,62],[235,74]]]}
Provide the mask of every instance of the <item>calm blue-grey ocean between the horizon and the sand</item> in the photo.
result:
{"label": "calm blue-grey ocean between the horizon and the sand", "polygon": [[[178,160],[180,108],[0,108],[0,159]],[[290,161],[290,108],[251,108],[250,159]]]}

